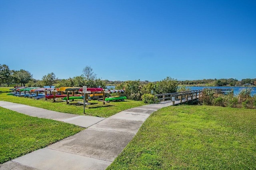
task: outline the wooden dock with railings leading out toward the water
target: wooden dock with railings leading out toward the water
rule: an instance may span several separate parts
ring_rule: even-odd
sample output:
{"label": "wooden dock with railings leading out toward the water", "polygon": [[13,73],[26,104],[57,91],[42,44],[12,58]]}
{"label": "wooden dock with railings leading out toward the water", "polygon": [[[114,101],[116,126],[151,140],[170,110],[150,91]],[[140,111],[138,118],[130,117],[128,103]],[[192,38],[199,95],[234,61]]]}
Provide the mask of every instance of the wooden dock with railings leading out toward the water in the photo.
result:
{"label": "wooden dock with railings leading out toward the water", "polygon": [[172,105],[178,105],[182,103],[193,103],[194,101],[198,101],[200,97],[203,96],[203,91],[206,94],[228,94],[233,93],[233,89],[202,89],[202,90],[191,90],[191,91],[182,91],[175,93],[164,93],[154,95],[154,103],[169,103],[172,102]]}

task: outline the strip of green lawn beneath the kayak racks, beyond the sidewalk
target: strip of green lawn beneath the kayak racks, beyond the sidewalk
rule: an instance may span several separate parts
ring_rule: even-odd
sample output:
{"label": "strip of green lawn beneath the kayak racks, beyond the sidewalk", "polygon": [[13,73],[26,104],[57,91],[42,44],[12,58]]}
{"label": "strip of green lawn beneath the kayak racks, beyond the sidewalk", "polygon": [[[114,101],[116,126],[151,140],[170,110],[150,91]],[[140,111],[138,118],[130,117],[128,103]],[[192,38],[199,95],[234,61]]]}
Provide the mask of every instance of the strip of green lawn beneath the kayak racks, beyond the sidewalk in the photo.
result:
{"label": "strip of green lawn beneath the kayak racks, beyond the sidewalk", "polygon": [[[10,88],[9,88],[10,89]],[[1,89],[0,89],[1,90]],[[0,101],[9,101],[13,103],[20,103],[24,105],[40,107],[43,109],[48,109],[52,111],[58,111],[63,113],[72,113],[76,115],[84,115],[84,107],[83,105],[78,105],[78,101],[82,100],[75,100],[70,102],[70,104],[66,104],[62,100],[58,100],[57,102],[53,103],[53,100],[45,100],[45,99],[30,99],[27,97],[16,97],[16,96],[9,96],[8,93],[1,93],[0,92]],[[85,113],[86,115],[90,116],[98,116],[98,117],[110,117],[120,111],[130,109],[132,107],[138,107],[145,105],[142,101],[111,101],[106,105],[103,105],[102,102],[99,101],[89,101],[92,105],[86,105]]]}

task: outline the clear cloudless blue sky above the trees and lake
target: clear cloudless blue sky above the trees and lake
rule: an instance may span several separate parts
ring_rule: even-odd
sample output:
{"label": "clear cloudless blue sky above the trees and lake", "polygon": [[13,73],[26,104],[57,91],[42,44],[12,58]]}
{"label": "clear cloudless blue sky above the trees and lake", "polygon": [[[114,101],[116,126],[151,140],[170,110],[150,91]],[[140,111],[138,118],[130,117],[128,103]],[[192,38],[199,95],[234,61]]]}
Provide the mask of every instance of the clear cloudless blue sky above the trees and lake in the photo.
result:
{"label": "clear cloudless blue sky above the trees and lake", "polygon": [[0,64],[34,79],[256,78],[255,0],[1,0]]}

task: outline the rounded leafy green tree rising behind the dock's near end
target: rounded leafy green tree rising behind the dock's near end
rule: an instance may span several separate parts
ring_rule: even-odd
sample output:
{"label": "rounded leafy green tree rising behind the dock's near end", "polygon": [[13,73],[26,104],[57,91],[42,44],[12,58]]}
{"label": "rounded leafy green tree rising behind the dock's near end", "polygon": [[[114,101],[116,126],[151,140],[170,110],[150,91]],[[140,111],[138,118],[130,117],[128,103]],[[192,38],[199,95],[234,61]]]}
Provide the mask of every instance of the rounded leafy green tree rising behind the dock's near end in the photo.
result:
{"label": "rounded leafy green tree rising behind the dock's near end", "polygon": [[166,77],[165,79],[158,81],[156,83],[156,93],[173,93],[178,89],[178,81],[172,79],[171,77]]}

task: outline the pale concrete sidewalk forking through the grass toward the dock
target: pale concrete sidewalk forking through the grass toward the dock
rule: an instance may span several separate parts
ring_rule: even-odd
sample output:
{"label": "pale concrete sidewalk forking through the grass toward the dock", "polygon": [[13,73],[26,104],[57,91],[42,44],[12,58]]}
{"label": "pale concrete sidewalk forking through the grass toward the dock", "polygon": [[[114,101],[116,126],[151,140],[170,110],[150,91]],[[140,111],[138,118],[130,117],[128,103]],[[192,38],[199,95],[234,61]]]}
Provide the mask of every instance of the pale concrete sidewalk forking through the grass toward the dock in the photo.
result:
{"label": "pale concrete sidewalk forking through the grass toward the dock", "polygon": [[77,134],[0,164],[0,170],[104,170],[132,140],[144,121],[170,103],[151,104],[121,111],[108,118],[78,116],[0,101],[0,107],[26,115],[87,127]]}

